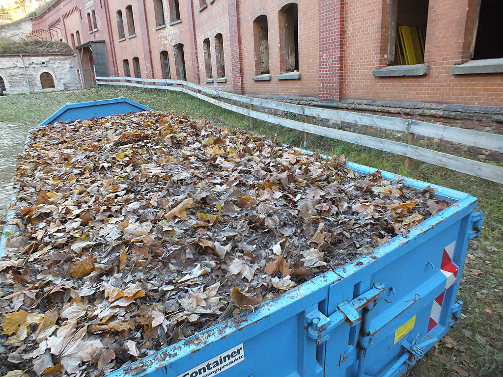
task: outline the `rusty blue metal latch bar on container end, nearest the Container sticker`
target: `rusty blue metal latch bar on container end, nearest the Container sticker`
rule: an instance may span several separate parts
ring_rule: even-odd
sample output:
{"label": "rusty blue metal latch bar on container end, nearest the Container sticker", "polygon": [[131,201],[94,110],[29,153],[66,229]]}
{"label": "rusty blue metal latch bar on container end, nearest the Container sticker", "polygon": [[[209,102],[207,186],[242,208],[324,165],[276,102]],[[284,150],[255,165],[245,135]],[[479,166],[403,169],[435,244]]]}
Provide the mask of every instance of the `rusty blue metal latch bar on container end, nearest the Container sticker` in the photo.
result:
{"label": "rusty blue metal latch bar on container end, nearest the Container sticker", "polygon": [[346,322],[353,327],[362,320],[358,310],[367,307],[374,302],[376,298],[384,292],[384,284],[376,282],[371,290],[358,296],[356,299],[346,301],[337,306],[337,312],[329,317],[325,316],[319,310],[315,309],[306,314],[307,336],[316,340],[317,344],[326,342],[330,337],[330,331],[341,323]]}

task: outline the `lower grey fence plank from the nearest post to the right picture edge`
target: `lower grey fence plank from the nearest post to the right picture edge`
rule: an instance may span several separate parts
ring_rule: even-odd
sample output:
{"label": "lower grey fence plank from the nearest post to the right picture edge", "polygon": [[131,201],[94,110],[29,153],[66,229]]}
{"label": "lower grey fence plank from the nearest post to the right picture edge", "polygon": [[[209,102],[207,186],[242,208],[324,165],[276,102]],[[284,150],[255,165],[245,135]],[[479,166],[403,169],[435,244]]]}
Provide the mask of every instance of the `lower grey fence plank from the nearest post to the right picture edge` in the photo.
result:
{"label": "lower grey fence plank from the nearest post to the right picture edge", "polygon": [[409,145],[407,156],[437,166],[503,183],[503,167]]}

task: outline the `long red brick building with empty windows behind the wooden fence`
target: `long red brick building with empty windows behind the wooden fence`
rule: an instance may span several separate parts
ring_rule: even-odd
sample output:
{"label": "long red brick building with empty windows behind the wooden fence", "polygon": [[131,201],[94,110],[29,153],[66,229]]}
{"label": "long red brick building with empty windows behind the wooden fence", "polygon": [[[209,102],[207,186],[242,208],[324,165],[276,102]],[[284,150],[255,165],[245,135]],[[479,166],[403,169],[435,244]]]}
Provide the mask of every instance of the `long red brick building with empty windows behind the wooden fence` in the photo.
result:
{"label": "long red brick building with empty windows behind the wooden fence", "polygon": [[85,81],[185,78],[501,132],[501,22],[498,0],[60,0],[32,27],[75,46]]}

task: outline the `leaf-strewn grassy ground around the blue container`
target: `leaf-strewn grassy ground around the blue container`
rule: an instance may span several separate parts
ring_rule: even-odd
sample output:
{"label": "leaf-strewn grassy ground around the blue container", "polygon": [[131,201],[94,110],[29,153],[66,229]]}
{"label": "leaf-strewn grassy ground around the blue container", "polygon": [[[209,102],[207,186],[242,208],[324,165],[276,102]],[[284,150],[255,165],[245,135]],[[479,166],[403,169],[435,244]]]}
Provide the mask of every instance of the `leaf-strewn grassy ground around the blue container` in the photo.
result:
{"label": "leaf-strewn grassy ground around the blue container", "polygon": [[[302,132],[249,119],[175,92],[129,88],[99,88],[38,93],[0,98],[0,122],[26,130],[67,102],[82,102],[124,96],[159,111],[206,118],[220,126],[247,129],[261,135],[277,135],[284,143],[301,146]],[[25,132],[25,131],[23,131]],[[460,322],[453,326],[418,364],[410,377],[502,376],[503,375],[503,185],[413,161],[403,167],[403,157],[378,150],[311,136],[307,149],[325,154],[345,154],[350,161],[373,166],[430,183],[450,187],[479,198],[485,211],[484,228],[472,240],[462,275],[459,299],[464,302]]]}

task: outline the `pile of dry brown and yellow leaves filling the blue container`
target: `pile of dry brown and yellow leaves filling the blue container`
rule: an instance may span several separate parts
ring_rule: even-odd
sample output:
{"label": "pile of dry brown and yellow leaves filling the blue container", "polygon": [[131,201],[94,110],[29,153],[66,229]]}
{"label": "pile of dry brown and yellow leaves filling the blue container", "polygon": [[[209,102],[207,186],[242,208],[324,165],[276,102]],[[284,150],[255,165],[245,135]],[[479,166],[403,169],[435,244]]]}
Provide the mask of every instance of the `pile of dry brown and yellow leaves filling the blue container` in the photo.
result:
{"label": "pile of dry brown and yellow leaves filling the blue container", "polygon": [[448,205],[344,158],[157,112],[39,128],[16,187],[0,364],[32,376],[105,375]]}

